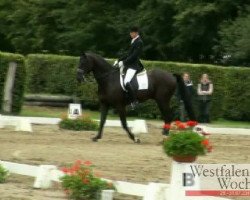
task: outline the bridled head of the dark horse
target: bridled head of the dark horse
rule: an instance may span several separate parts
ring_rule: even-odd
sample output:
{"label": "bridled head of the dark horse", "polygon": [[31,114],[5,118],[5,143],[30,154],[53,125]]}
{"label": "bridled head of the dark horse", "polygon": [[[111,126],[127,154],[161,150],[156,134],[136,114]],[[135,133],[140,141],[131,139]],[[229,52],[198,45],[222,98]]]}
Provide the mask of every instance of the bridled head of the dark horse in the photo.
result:
{"label": "bridled head of the dark horse", "polygon": [[79,62],[79,66],[78,66],[78,69],[77,69],[77,75],[76,75],[77,81],[79,83],[84,81],[85,80],[85,75],[88,74],[91,70],[92,70],[91,65],[89,63],[87,55],[85,53],[83,53],[80,56],[80,62]]}

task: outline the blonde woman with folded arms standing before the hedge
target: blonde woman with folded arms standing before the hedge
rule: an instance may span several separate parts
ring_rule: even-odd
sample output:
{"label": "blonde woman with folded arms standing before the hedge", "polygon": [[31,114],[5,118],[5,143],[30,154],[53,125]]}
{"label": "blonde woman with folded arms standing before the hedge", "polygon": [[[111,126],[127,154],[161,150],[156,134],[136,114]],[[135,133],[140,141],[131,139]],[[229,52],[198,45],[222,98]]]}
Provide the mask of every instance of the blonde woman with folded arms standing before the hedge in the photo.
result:
{"label": "blonde woman with folded arms standing before the hedge", "polygon": [[199,100],[199,122],[209,123],[209,110],[211,105],[211,95],[213,94],[213,83],[207,74],[202,74],[197,88]]}

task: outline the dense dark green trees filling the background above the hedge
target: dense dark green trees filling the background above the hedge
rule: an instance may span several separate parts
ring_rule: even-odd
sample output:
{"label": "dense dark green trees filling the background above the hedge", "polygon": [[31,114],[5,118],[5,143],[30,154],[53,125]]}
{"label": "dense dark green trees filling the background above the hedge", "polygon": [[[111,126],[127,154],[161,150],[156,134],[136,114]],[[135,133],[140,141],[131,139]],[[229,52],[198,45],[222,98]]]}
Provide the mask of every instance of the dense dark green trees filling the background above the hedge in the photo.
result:
{"label": "dense dark green trees filling the background above the hedge", "polygon": [[144,59],[218,63],[231,55],[228,64],[243,65],[247,6],[245,0],[0,0],[0,50],[114,58],[129,46],[129,27],[138,25]]}

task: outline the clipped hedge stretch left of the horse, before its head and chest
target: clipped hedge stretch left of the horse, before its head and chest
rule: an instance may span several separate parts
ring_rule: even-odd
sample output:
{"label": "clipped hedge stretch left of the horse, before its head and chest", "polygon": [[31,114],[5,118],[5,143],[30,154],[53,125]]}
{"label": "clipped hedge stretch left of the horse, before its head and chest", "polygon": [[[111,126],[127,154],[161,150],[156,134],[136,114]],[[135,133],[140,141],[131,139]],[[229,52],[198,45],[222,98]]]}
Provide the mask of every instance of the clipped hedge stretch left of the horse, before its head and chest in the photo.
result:
{"label": "clipped hedge stretch left of the horse, before its head and chest", "polygon": [[[97,107],[97,86],[93,78],[84,84],[76,81],[79,58],[45,54],[27,56],[27,93],[78,96],[87,106]],[[94,92],[93,92],[94,90]]]}

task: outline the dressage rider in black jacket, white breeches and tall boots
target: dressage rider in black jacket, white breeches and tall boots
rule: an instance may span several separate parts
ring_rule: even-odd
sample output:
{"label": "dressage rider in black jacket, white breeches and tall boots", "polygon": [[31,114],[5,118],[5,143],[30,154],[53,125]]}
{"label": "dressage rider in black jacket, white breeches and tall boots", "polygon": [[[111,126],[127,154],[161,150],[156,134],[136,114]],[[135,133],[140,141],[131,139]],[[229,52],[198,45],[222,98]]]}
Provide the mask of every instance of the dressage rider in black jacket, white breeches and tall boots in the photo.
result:
{"label": "dressage rider in black jacket, white breeches and tall boots", "polygon": [[135,91],[131,85],[131,80],[136,73],[144,69],[142,63],[139,60],[142,53],[143,42],[139,35],[138,27],[132,27],[130,29],[130,37],[132,38],[132,41],[127,55],[121,57],[114,63],[114,65],[117,65],[118,63],[118,66],[124,67],[124,71],[126,71],[124,85],[131,101],[131,107],[134,109],[137,101]]}

